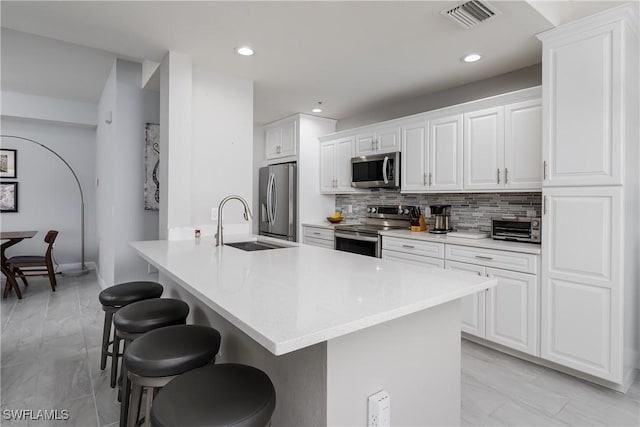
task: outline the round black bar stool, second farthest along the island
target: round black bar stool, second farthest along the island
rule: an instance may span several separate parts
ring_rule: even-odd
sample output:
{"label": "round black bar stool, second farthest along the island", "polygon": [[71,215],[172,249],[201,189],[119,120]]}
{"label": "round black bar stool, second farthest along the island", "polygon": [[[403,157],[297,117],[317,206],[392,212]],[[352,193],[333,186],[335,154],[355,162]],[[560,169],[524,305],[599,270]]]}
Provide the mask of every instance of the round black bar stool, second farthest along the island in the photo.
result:
{"label": "round black bar stool, second farthest along the island", "polygon": [[[171,325],[187,323],[189,305],[184,301],[173,298],[156,298],[138,301],[122,307],[113,315],[113,325],[116,328],[113,348],[119,347],[119,340],[124,340],[123,354],[126,354],[129,344],[142,334],[154,329]],[[129,410],[129,376],[127,365],[121,366],[122,387],[120,399],[121,419],[126,419]],[[124,391],[124,393],[122,393]],[[124,424],[121,424],[124,425]]]}

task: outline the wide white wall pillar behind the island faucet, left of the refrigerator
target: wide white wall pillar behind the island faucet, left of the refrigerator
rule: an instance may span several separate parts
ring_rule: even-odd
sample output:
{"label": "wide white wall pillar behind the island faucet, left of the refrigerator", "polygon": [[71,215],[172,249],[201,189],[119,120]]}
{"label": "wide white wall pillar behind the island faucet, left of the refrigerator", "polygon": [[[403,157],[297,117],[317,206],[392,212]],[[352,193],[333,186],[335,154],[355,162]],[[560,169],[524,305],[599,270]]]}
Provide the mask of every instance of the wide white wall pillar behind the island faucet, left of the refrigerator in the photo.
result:
{"label": "wide white wall pillar behind the island faucet, left of the refrigerator", "polygon": [[[193,238],[195,228],[213,234],[211,209],[225,196],[252,204],[253,82],[176,52],[163,59],[160,80],[161,153],[170,153],[161,154],[160,237]],[[225,206],[227,233],[250,231],[242,213],[237,201]]]}

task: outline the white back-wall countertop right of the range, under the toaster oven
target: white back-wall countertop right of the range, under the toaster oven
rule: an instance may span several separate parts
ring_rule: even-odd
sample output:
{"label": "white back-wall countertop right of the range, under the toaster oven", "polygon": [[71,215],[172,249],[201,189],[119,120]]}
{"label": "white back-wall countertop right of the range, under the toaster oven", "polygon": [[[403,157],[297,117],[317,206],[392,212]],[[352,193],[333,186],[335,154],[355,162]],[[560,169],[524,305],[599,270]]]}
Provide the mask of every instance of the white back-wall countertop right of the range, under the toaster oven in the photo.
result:
{"label": "white back-wall countertop right of the range, under the toaster oven", "polygon": [[522,252],[526,254],[540,255],[540,244],[507,242],[504,240],[465,239],[463,237],[448,237],[446,234],[433,234],[428,231],[389,230],[381,233],[383,236],[402,237],[405,239],[425,240],[428,242],[448,243],[451,245],[473,246],[476,248],[496,249],[501,251]]}

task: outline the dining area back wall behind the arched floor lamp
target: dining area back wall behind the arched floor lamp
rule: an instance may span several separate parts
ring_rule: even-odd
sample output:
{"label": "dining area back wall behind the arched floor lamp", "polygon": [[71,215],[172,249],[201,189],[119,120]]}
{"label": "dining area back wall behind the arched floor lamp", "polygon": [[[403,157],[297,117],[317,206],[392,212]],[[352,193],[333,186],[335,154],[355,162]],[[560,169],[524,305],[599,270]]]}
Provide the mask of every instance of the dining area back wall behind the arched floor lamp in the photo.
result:
{"label": "dining area back wall behind the arched floor lamp", "polygon": [[[0,126],[4,135],[21,136],[46,145],[75,170],[85,198],[85,258],[95,260],[95,130],[8,117],[2,117]],[[17,179],[6,179],[18,182],[18,212],[0,216],[2,229],[39,231],[34,238],[10,248],[7,255],[44,254],[44,234],[55,229],[60,232],[54,250],[56,261],[79,266],[80,192],[73,175],[60,159],[35,144],[2,138],[2,148],[18,150]]]}

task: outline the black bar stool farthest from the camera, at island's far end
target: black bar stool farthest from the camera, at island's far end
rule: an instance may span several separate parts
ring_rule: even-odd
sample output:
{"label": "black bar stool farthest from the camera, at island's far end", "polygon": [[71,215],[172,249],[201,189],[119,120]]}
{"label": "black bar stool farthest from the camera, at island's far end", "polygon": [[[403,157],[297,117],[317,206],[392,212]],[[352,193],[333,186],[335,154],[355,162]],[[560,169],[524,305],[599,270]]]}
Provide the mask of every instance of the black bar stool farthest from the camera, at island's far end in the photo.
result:
{"label": "black bar stool farthest from the camera, at island's far end", "polygon": [[[131,304],[133,302],[160,298],[162,295],[162,285],[156,282],[126,282],[120,283],[115,286],[111,286],[98,295],[100,304],[102,304],[102,310],[104,311],[104,327],[102,328],[102,354],[100,356],[100,369],[104,371],[107,367],[107,356],[111,359],[111,388],[116,386],[116,378],[118,377],[118,348],[115,346],[115,334],[114,340],[109,341],[111,337],[111,324],[113,321],[113,314],[120,308]],[[119,343],[119,341],[118,341]],[[112,351],[109,351],[109,345],[112,345]]]}

